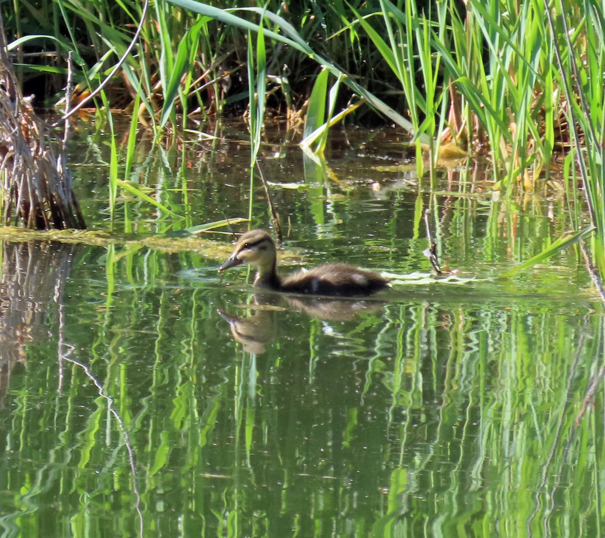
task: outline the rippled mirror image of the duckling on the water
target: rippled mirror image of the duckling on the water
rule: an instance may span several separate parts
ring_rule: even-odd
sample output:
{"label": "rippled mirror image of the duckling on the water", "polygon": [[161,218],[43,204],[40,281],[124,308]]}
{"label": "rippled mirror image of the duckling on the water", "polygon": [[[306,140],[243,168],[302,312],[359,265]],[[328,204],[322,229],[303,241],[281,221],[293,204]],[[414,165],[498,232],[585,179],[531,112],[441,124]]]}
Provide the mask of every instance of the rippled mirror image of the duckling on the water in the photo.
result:
{"label": "rippled mirror image of the duckling on the water", "polygon": [[364,313],[376,312],[386,301],[352,300],[347,298],[304,297],[281,294],[255,294],[253,304],[246,308],[253,315],[244,318],[217,310],[223,320],[229,323],[231,335],[243,344],[244,351],[261,355],[266,344],[275,338],[275,320],[284,310],[305,312],[311,318],[326,321],[351,321]]}

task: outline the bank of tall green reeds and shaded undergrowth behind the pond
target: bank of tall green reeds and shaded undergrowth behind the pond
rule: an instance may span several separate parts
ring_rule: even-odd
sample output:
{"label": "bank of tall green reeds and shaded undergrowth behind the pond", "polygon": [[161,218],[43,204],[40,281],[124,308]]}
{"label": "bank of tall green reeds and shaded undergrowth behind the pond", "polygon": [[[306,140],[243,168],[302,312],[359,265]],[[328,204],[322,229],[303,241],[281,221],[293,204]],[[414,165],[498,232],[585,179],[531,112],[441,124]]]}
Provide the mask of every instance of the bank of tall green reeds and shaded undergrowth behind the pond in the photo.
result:
{"label": "bank of tall green reeds and shaded undergrowth behind the pond", "polygon": [[[217,5],[220,4],[220,7]],[[76,91],[107,118],[132,115],[131,137],[203,131],[243,116],[255,159],[269,112],[322,158],[339,123],[386,122],[410,134],[419,174],[440,156],[491,162],[511,196],[551,179],[585,198],[594,274],[605,270],[605,17],[596,0],[149,3],[15,0],[3,4],[8,50],[24,93],[53,105],[68,54]],[[101,88],[101,90],[98,90]],[[34,91],[35,90],[35,91]],[[44,97],[42,97],[44,96]],[[110,207],[117,163],[113,142]],[[136,189],[135,189],[136,190]],[[133,192],[132,194],[136,194]],[[249,215],[250,216],[250,215]],[[586,215],[575,215],[580,234]]]}

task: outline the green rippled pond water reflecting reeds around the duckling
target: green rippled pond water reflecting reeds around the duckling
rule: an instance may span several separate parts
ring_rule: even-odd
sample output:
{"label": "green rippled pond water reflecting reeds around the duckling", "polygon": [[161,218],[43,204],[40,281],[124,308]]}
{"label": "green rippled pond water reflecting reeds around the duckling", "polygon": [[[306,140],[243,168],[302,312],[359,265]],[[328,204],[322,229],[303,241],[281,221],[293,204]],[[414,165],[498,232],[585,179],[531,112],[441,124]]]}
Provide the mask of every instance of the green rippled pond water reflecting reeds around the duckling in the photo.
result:
{"label": "green rippled pond water reflecting reeds around the duckling", "polygon": [[[244,134],[142,145],[131,180],[187,220],[122,200],[114,231],[246,216]],[[103,138],[75,143],[88,224],[109,229]],[[430,273],[429,208],[442,262],[482,278],[571,226],[556,190],[506,203],[469,168],[376,168],[405,153],[349,133],[328,173],[264,148],[283,250]],[[270,225],[260,184],[254,214]],[[2,243],[1,536],[601,536],[603,307],[577,252],[303,303],[245,269],[221,282],[225,251]]]}

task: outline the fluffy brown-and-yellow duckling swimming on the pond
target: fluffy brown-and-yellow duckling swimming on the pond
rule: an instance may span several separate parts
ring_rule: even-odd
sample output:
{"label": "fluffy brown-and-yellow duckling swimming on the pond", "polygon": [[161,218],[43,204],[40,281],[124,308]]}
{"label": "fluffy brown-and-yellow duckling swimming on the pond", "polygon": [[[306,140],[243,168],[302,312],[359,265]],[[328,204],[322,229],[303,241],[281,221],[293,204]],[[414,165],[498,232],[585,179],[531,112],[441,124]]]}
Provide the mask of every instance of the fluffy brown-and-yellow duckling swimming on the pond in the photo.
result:
{"label": "fluffy brown-and-yellow duckling swimming on the pond", "polygon": [[370,295],[388,286],[389,279],[344,263],[326,263],[309,271],[298,271],[280,278],[276,271],[277,251],[271,236],[264,230],[250,230],[235,244],[233,254],[219,268],[247,263],[256,267],[254,286],[280,292],[352,297]]}

